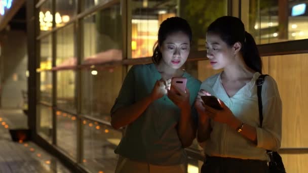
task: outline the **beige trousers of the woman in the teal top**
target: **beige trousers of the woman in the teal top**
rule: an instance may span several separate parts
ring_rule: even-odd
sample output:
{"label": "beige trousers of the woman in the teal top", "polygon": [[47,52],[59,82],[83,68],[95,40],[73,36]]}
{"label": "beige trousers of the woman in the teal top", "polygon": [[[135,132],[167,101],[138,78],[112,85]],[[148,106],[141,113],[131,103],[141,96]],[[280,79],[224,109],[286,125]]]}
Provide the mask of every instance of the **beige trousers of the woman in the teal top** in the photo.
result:
{"label": "beige trousers of the woman in the teal top", "polygon": [[133,161],[128,158],[119,157],[115,173],[184,173],[184,164],[174,166],[159,166],[146,162]]}

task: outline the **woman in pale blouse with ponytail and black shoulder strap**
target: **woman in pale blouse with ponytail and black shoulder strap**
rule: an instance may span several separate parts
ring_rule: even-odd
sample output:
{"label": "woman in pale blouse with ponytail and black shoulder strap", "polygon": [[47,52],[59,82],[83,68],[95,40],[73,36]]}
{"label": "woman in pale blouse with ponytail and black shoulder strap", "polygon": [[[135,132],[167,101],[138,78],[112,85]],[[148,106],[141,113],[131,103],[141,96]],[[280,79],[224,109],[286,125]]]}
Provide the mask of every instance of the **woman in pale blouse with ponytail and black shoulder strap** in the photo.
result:
{"label": "woman in pale blouse with ponytail and black shoulder strap", "polygon": [[[204,147],[202,172],[268,172],[266,150],[281,145],[282,103],[275,80],[262,87],[263,124],[260,127],[256,79],[262,62],[253,37],[236,17],[216,19],[207,30],[207,57],[221,73],[206,79],[195,106],[199,114],[197,139]],[[223,110],[204,105],[213,95]]]}

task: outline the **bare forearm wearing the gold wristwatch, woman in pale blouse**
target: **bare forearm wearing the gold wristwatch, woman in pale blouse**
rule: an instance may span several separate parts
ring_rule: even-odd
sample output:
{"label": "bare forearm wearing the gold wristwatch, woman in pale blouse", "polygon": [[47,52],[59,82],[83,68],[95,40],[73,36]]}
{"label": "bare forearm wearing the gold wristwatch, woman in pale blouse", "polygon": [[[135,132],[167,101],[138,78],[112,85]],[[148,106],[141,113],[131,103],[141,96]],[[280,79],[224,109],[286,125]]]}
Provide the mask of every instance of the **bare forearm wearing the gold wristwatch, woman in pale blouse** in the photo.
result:
{"label": "bare forearm wearing the gold wristwatch, woman in pale blouse", "polygon": [[[241,124],[242,124],[242,121],[236,117],[228,123],[228,125],[235,130],[237,130],[241,126]],[[257,145],[257,131],[255,127],[244,123],[243,129],[240,132],[240,134],[243,137],[249,139],[255,145]]]}

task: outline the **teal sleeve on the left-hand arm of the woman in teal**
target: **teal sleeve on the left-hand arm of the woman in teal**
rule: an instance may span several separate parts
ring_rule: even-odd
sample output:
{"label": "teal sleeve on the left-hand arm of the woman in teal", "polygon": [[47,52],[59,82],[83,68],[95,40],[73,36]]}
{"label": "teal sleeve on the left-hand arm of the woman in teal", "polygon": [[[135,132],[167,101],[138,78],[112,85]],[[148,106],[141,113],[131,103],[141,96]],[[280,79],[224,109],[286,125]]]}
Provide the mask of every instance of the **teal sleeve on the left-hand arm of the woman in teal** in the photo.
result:
{"label": "teal sleeve on the left-hand arm of the woman in teal", "polygon": [[122,84],[119,96],[117,99],[115,99],[115,103],[110,110],[110,115],[112,115],[119,108],[132,105],[135,102],[135,97],[134,97],[135,70],[136,66],[133,66],[127,73],[124,82]]}

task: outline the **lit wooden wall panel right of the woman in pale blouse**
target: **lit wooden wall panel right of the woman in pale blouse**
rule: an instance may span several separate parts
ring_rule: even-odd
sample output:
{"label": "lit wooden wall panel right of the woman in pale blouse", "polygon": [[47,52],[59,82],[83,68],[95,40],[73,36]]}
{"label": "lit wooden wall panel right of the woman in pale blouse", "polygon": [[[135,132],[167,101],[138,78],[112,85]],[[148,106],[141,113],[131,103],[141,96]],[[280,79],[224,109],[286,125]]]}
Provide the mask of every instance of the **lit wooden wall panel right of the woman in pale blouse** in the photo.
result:
{"label": "lit wooden wall panel right of the woman in pale blouse", "polygon": [[283,102],[282,148],[308,147],[308,54],[270,57]]}

